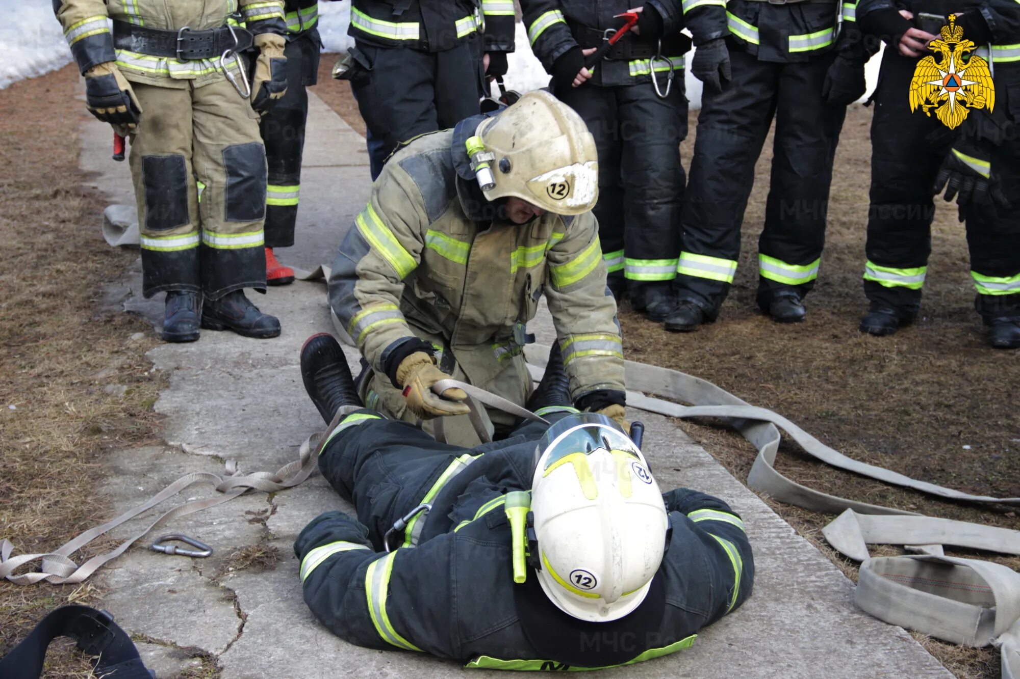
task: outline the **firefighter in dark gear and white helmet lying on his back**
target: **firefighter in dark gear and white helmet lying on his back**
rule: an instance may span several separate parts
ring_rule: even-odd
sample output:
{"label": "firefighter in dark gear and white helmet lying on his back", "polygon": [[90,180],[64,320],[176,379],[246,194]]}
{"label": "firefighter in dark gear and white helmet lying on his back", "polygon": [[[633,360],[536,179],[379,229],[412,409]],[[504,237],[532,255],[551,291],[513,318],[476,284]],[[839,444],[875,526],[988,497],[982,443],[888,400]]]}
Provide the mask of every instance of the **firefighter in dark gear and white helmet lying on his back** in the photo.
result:
{"label": "firefighter in dark gear and white helmet lying on his back", "polygon": [[660,494],[613,420],[571,407],[558,347],[528,404],[550,423],[483,452],[365,408],[327,334],[305,343],[301,371],[334,423],[319,469],[357,519],[322,514],[294,549],[305,603],[351,643],[601,668],[685,648],[751,595],[741,518],[702,492]]}

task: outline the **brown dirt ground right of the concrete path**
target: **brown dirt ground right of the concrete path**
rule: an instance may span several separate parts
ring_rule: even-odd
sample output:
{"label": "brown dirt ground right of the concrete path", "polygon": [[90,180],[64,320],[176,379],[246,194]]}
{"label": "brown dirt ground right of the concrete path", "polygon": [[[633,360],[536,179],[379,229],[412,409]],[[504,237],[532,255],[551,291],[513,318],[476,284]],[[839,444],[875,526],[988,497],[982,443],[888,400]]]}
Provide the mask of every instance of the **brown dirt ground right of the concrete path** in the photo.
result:
{"label": "brown dirt ground right of the concrete path", "polygon": [[[323,55],[315,93],[353,127],[364,129],[347,83],[333,81]],[[621,310],[627,358],[711,380],[756,406],[770,408],[850,457],[925,481],[996,497],[1020,497],[1020,352],[989,349],[973,311],[974,289],[963,224],[940,207],[922,315],[891,337],[857,330],[867,303],[861,288],[868,211],[871,111],[851,107],[832,185],[827,245],[808,319],[781,325],[755,305],[757,240],[765,215],[771,138],[756,168],[745,215],[741,263],[720,320],[697,332],[666,332],[626,306]],[[697,129],[681,146],[690,163]],[[746,481],[755,450],[709,421],[678,422],[731,473]],[[872,504],[1017,529],[1006,507],[940,502],[812,461],[785,445],[777,467],[798,482]],[[857,567],[829,549],[820,529],[832,517],[769,501],[770,506],[856,579]],[[873,554],[882,553],[881,547]],[[888,554],[895,554],[888,550]],[[959,553],[958,553],[959,554]],[[961,556],[967,556],[961,554]],[[971,555],[973,556],[973,555]],[[1012,568],[1020,559],[994,559]],[[920,635],[918,635],[919,638]],[[1000,674],[998,651],[921,638],[959,677]]]}

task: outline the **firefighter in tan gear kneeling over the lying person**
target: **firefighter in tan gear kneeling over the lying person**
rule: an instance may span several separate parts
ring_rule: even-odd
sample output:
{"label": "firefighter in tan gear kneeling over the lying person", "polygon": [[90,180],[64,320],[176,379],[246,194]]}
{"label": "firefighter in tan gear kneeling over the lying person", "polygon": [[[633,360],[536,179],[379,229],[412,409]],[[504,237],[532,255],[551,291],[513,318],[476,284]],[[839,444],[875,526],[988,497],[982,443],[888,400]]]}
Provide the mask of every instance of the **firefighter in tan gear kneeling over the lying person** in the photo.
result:
{"label": "firefighter in tan gear kneeling over the lying person", "polygon": [[[543,294],[573,405],[624,421],[616,303],[591,209],[595,142],[547,92],[421,137],[387,162],[334,262],[329,302],[371,371],[365,402],[393,419],[464,416],[450,377],[523,405],[522,356]],[[513,418],[489,412],[498,435]],[[448,440],[475,445],[467,417]]]}

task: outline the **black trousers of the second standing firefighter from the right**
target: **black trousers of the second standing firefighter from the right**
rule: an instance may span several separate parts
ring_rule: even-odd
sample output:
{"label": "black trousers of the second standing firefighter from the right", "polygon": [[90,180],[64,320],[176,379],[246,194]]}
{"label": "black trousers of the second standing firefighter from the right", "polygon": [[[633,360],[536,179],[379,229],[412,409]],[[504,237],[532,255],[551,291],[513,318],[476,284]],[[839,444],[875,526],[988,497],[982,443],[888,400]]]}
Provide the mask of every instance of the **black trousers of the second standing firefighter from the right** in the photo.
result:
{"label": "black trousers of the second standing firefighter from the right", "polygon": [[709,318],[733,282],[741,225],[772,118],[775,138],[765,226],[758,241],[758,304],[777,294],[804,297],[814,285],[825,242],[832,161],[847,114],[822,99],[834,52],[810,61],[772,63],[731,48],[732,81],[706,89],[680,216],[679,298]]}

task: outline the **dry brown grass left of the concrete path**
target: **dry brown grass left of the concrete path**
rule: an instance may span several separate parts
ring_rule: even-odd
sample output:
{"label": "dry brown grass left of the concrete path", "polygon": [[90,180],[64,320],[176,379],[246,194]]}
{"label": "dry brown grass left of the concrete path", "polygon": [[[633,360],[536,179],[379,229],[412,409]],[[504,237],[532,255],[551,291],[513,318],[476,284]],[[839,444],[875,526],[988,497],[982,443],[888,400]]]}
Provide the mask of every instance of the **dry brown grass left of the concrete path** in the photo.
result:
{"label": "dry brown grass left of the concrete path", "polygon": [[[54,550],[108,516],[94,493],[103,452],[153,436],[162,384],[144,357],[151,328],[97,308],[101,284],[138,254],[103,242],[104,203],[82,189],[79,91],[71,66],[0,91],[0,537],[18,554]],[[100,595],[0,581],[0,655],[54,608]],[[50,654],[46,676],[88,676],[72,647]]]}

